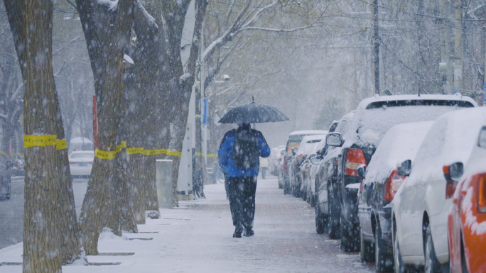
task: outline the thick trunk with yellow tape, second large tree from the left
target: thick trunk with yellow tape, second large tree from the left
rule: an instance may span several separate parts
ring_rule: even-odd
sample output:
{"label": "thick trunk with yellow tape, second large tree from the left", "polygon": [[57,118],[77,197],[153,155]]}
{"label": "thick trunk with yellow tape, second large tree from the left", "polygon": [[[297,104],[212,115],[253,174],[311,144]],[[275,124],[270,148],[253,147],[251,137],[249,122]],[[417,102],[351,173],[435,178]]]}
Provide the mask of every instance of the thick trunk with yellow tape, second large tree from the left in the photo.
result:
{"label": "thick trunk with yellow tape, second large tree from the left", "polygon": [[[123,92],[123,56],[129,43],[133,0],[119,1],[116,14],[97,0],[77,0],[82,28],[90,55],[99,130],[97,152],[85,200],[82,204],[80,225],[87,255],[97,255],[99,233],[104,227],[112,228],[121,235],[121,199],[116,154],[119,121],[125,111]],[[101,151],[101,152],[100,152]],[[102,156],[102,152],[107,157]]]}

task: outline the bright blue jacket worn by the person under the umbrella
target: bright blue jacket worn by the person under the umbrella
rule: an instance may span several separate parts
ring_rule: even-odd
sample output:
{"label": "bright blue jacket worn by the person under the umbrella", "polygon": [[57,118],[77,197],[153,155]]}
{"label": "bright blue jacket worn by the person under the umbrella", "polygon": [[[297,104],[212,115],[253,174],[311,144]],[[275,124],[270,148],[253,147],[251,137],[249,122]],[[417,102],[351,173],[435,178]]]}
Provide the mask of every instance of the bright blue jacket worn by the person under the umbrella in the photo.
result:
{"label": "bright blue jacket worn by the person under the umbrella", "polygon": [[[266,140],[264,136],[258,130],[252,130],[252,131],[258,134],[258,147],[260,149],[260,157],[269,157],[271,150],[269,145],[266,144]],[[222,166],[222,169],[225,169],[227,171],[228,177],[257,176],[259,171],[259,164],[257,164],[255,167],[252,167],[250,169],[240,169],[239,167],[234,166],[231,154],[233,152],[235,134],[236,134],[236,129],[229,130],[227,133],[225,133],[225,137],[223,137],[220,150],[217,151],[217,156],[219,157],[220,165]]]}

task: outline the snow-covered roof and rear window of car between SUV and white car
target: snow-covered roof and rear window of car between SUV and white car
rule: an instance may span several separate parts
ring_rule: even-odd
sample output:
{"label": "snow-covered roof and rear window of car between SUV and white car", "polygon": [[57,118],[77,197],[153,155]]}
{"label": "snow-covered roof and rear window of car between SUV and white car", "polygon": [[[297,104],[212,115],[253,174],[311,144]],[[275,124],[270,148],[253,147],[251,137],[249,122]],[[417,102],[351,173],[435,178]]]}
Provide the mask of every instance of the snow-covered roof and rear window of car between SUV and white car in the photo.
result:
{"label": "snow-covered roof and rear window of car between SUV and white car", "polygon": [[396,169],[397,163],[404,160],[413,162],[432,124],[433,121],[423,121],[393,126],[374,152],[363,183],[383,182]]}

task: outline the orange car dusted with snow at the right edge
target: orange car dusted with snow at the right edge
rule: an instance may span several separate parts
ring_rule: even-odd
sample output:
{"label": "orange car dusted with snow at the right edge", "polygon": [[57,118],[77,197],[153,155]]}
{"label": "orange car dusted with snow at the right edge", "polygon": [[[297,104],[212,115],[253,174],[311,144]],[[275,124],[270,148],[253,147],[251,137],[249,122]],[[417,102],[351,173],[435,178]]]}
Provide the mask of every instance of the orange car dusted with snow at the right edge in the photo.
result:
{"label": "orange car dusted with snow at the right edge", "polygon": [[448,216],[450,272],[486,272],[486,126],[457,185],[453,172],[446,187],[454,192]]}

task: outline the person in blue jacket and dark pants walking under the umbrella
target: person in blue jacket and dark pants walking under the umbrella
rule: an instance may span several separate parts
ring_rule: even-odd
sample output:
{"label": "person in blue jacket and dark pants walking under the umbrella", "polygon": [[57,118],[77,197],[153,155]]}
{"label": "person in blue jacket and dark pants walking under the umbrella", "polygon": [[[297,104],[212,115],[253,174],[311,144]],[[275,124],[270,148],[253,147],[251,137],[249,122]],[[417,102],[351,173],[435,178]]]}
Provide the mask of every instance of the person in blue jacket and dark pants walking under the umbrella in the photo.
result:
{"label": "person in blue jacket and dark pants walking under the umbrella", "polygon": [[227,169],[229,207],[234,225],[233,238],[254,235],[255,193],[259,173],[259,157],[269,157],[270,147],[260,131],[249,123],[225,134],[218,157]]}

